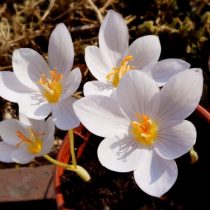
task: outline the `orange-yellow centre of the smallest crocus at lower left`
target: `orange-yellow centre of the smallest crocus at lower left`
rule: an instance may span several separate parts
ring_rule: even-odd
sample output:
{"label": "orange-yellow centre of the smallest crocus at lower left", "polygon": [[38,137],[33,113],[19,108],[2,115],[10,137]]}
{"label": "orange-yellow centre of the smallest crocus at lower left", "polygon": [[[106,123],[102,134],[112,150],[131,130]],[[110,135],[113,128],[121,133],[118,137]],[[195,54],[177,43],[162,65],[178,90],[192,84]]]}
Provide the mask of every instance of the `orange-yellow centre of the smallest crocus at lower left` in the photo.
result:
{"label": "orange-yellow centre of the smallest crocus at lower left", "polygon": [[29,137],[26,137],[20,131],[16,131],[17,137],[20,139],[20,142],[16,145],[19,147],[22,143],[27,145],[27,150],[32,154],[38,154],[42,150],[43,140],[40,136],[45,135],[44,133],[37,133],[33,128],[29,130]]}

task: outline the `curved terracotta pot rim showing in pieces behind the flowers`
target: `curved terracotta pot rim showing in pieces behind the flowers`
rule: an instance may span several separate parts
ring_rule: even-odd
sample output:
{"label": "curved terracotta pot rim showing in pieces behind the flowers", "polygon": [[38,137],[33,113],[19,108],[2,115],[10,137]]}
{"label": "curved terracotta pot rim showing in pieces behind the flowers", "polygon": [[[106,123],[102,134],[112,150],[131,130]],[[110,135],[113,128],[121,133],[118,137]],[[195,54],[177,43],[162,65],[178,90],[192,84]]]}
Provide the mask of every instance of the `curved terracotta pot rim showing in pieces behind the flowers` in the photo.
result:
{"label": "curved terracotta pot rim showing in pieces behind the flowers", "polygon": [[[207,109],[205,109],[202,105],[197,106],[195,113],[198,114],[201,118],[203,118],[206,122],[210,124],[210,112]],[[81,124],[78,128],[74,129],[74,134],[81,137],[84,140],[84,144],[86,144],[89,139],[90,133],[84,132],[84,130],[85,128]],[[82,151],[80,152],[79,155],[81,155],[81,153]],[[69,159],[70,159],[70,145],[69,145],[68,135],[66,135],[59,149],[57,160],[63,163],[68,163]],[[54,186],[55,186],[55,192],[56,192],[55,198],[56,198],[56,203],[59,210],[70,210],[70,209],[65,208],[64,206],[64,203],[65,203],[64,197],[60,189],[60,185],[61,185],[60,177],[63,175],[64,170],[65,170],[64,168],[56,166],[55,178],[54,178]]]}

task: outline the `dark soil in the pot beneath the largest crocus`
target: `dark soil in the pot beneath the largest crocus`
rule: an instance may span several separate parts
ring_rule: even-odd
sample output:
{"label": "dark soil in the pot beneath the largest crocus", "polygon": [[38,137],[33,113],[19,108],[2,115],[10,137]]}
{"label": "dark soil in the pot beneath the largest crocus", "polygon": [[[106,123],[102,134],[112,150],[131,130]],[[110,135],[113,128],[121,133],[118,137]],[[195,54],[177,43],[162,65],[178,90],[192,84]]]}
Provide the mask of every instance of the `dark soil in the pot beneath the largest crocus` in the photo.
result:
{"label": "dark soil in the pot beneath the largest crocus", "polygon": [[210,129],[195,113],[189,120],[194,123],[198,132],[195,150],[199,160],[191,164],[189,153],[178,158],[178,179],[161,198],[144,193],[136,185],[133,172],[117,173],[104,168],[96,153],[102,139],[92,135],[79,159],[79,164],[87,169],[92,179],[89,183],[84,183],[75,173],[64,173],[61,191],[66,207],[75,210],[206,209],[209,206],[209,193],[206,192],[210,189]]}

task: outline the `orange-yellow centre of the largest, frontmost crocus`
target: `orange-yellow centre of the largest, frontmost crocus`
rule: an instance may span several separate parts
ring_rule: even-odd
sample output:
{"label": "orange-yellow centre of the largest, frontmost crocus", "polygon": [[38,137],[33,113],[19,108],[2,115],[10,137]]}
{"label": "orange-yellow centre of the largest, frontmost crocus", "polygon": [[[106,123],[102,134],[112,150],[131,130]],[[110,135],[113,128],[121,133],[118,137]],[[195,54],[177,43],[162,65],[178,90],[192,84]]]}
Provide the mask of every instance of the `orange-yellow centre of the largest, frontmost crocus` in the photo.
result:
{"label": "orange-yellow centre of the largest, frontmost crocus", "polygon": [[137,121],[131,122],[131,133],[135,139],[144,144],[152,145],[158,136],[157,124],[149,116],[137,113]]}

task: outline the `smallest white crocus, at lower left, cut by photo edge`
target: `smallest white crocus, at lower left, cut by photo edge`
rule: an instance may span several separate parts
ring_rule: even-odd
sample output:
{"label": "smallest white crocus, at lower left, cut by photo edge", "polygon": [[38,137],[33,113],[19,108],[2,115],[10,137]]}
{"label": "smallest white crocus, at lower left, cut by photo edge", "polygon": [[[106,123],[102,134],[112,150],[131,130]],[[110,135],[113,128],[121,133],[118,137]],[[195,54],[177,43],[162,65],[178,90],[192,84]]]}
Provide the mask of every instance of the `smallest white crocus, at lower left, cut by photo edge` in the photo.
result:
{"label": "smallest white crocus, at lower left, cut by photo edge", "polygon": [[35,157],[50,152],[54,142],[55,125],[52,117],[32,120],[20,115],[20,121],[9,119],[0,122],[0,161],[29,163]]}

